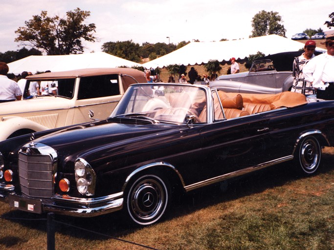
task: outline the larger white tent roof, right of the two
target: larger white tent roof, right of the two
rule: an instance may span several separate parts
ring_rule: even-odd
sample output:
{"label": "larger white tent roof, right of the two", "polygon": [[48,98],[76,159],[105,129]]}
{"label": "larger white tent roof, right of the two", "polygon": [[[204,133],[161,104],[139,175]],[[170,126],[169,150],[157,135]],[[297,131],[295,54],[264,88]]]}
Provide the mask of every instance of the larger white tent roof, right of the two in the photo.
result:
{"label": "larger white tent roof, right of the two", "polygon": [[[281,52],[298,51],[304,43],[293,41],[278,35],[232,40],[223,42],[190,42],[165,56],[142,64],[145,68],[164,67],[169,64],[196,65],[207,63],[209,60],[219,62],[229,61],[230,58],[245,59],[258,51],[267,55]],[[326,51],[316,48],[317,51]]]}

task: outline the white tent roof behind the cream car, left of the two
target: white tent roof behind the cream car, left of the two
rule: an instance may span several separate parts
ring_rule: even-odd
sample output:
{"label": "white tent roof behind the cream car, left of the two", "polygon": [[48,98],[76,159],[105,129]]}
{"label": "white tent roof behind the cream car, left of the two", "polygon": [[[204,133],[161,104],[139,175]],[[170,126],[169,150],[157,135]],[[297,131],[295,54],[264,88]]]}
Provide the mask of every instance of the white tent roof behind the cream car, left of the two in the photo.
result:
{"label": "white tent roof behind the cream car, left of the two", "polygon": [[119,66],[141,66],[141,64],[112,56],[105,52],[85,53],[62,56],[29,56],[21,60],[8,63],[9,72],[16,75],[23,71],[52,72],[81,68],[115,68]]}

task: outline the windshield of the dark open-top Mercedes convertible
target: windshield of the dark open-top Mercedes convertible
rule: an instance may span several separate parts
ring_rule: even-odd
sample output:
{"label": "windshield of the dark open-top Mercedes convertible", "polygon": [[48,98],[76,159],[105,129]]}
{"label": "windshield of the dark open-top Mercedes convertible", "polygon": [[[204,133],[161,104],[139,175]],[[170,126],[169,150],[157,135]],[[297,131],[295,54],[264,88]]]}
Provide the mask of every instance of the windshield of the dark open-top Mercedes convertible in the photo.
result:
{"label": "windshield of the dark open-top Mercedes convertible", "polygon": [[111,117],[144,116],[160,122],[186,123],[189,116],[192,116],[196,119],[195,123],[205,123],[205,93],[205,89],[196,85],[132,85]]}

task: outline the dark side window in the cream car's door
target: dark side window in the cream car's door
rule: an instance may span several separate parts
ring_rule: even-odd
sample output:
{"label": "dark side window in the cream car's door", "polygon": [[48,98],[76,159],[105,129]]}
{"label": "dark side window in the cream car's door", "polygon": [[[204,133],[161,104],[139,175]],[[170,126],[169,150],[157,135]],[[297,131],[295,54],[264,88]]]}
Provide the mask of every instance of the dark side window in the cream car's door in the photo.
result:
{"label": "dark side window in the cream car's door", "polygon": [[80,79],[78,100],[119,95],[118,75],[91,76]]}

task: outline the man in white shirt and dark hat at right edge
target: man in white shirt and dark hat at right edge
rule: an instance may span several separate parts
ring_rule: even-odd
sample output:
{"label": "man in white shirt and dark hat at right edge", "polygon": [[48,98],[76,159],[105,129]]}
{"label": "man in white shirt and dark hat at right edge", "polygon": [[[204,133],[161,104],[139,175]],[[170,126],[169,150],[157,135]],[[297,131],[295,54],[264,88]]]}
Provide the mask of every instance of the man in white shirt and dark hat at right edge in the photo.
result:
{"label": "man in white shirt and dark hat at right edge", "polygon": [[304,78],[316,89],[316,97],[334,100],[334,36],[326,38],[327,52],[314,57],[303,68]]}

